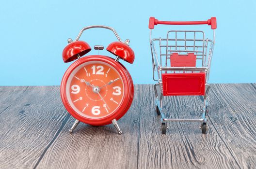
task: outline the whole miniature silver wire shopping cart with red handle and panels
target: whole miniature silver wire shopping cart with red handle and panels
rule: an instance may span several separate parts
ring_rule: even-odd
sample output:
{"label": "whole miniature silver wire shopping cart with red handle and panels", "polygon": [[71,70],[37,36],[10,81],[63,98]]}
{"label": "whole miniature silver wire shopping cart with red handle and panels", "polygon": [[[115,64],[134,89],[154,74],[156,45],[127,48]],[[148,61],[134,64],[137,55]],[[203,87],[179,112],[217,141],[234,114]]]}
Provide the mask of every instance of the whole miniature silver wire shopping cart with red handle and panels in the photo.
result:
{"label": "whole miniature silver wire shopping cart with red handle and panels", "polygon": [[[170,30],[165,39],[151,39],[155,25],[202,25],[207,24],[213,29],[213,40],[205,37],[199,30]],[[207,95],[210,85],[207,83],[215,42],[214,29],[217,28],[216,17],[207,21],[173,22],[159,21],[149,18],[150,47],[153,63],[153,79],[156,95],[156,112],[161,115],[162,134],[166,133],[169,121],[200,122],[202,133],[207,126]],[[155,44],[156,43],[156,44]],[[159,52],[159,53],[158,53]],[[158,90],[160,88],[160,96]],[[199,95],[204,97],[202,117],[200,119],[166,118],[162,109],[163,96]]]}

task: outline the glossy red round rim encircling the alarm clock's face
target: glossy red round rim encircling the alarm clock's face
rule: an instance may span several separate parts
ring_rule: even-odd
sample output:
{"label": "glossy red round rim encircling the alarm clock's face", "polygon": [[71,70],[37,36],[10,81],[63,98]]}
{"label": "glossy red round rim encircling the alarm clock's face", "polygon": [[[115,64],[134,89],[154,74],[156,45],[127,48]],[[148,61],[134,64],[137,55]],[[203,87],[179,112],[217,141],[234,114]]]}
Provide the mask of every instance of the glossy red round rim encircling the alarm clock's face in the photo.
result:
{"label": "glossy red round rim encircling the alarm clock's face", "polygon": [[[67,100],[66,84],[67,84],[68,77],[70,76],[73,70],[75,70],[78,66],[88,61],[101,61],[101,62],[110,64],[123,78],[125,93],[123,96],[123,100],[120,103],[121,105],[112,114],[110,114],[107,117],[91,119],[91,118],[81,116],[71,107],[71,105]],[[62,78],[62,82],[61,82],[61,99],[67,112],[70,113],[77,120],[93,126],[108,125],[112,123],[113,119],[116,119],[116,120],[120,119],[123,115],[125,115],[125,113],[127,113],[128,109],[130,108],[130,105],[133,100],[133,96],[134,96],[134,86],[128,70],[120,62],[116,62],[113,58],[109,56],[91,55],[91,56],[85,56],[78,59],[77,61],[72,63],[68,67],[68,69],[65,71]]]}

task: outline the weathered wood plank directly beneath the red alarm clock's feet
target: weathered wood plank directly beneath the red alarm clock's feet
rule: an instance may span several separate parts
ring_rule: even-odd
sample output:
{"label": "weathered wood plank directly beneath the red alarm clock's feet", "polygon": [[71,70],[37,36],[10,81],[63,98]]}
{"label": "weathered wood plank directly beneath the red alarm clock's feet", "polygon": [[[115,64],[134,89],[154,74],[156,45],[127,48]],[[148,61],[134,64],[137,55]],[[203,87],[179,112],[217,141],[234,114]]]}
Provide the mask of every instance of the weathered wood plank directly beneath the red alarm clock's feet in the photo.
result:
{"label": "weathered wood plank directly beneath the red alarm clock's feet", "polygon": [[70,134],[70,118],[59,137],[49,147],[38,169],[135,169],[139,135],[139,87],[128,113],[118,121],[123,130],[118,135],[112,125],[92,127],[83,123]]}

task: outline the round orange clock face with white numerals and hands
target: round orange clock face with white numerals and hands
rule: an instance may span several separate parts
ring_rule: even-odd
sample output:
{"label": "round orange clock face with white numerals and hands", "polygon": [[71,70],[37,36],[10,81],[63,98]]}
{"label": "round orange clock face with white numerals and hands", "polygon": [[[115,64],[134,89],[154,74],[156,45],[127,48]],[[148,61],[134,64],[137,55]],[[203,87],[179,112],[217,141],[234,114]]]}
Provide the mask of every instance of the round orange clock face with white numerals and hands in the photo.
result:
{"label": "round orange clock face with white numerals and hands", "polygon": [[124,98],[124,82],[114,67],[89,61],[75,68],[67,79],[67,101],[83,117],[99,119],[114,113]]}

